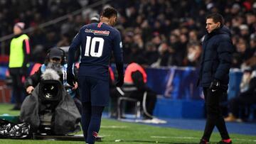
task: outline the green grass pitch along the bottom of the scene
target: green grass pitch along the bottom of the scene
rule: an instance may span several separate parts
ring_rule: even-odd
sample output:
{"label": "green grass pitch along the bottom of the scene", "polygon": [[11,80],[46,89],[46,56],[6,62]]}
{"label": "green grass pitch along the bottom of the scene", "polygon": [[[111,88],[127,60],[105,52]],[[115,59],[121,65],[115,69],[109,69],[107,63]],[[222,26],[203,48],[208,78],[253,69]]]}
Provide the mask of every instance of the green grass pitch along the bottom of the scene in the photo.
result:
{"label": "green grass pitch along the bottom of the scene", "polygon": [[[10,104],[0,104],[0,115],[9,113],[18,115],[19,111],[9,111]],[[256,130],[255,130],[256,131]],[[80,132],[81,133],[81,132]],[[78,133],[78,134],[80,134]],[[99,144],[150,144],[150,143],[166,143],[166,144],[183,144],[198,143],[203,131],[181,130],[176,128],[162,128],[157,126],[147,126],[139,123],[125,123],[111,119],[102,119],[100,135],[103,136],[102,142]],[[256,136],[230,134],[233,143],[240,144],[256,144]],[[220,140],[218,133],[213,133],[210,141],[211,144]],[[85,143],[75,141],[59,141],[59,140],[11,140],[0,139],[1,144],[64,144],[64,143]]]}

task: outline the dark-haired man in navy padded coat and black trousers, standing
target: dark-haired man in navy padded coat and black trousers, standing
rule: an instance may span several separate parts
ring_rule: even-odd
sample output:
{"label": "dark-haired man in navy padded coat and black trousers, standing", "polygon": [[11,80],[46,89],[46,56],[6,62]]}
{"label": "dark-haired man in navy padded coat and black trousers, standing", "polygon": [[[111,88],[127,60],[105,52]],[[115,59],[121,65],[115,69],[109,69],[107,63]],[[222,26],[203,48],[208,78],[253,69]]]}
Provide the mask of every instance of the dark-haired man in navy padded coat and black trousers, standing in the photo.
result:
{"label": "dark-haired man in navy padded coat and black trousers, standing", "polygon": [[200,144],[206,144],[216,126],[222,140],[220,144],[232,143],[220,110],[220,98],[228,90],[229,71],[233,44],[231,34],[223,26],[223,16],[218,13],[206,17],[207,34],[203,40],[203,54],[198,82],[206,99],[206,127]]}

